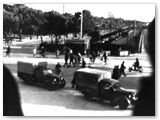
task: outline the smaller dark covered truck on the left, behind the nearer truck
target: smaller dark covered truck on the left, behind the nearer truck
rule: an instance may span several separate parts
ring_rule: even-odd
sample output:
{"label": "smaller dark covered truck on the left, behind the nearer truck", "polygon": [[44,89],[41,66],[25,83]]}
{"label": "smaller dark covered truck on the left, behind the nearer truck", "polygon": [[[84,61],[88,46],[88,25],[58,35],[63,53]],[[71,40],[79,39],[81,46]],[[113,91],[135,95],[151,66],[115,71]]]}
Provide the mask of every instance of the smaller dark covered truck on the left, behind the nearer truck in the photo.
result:
{"label": "smaller dark covered truck on the left, behind the nearer truck", "polygon": [[47,62],[17,62],[18,77],[27,84],[39,85],[48,90],[63,88],[66,84],[63,76],[58,76],[54,70],[47,68]]}

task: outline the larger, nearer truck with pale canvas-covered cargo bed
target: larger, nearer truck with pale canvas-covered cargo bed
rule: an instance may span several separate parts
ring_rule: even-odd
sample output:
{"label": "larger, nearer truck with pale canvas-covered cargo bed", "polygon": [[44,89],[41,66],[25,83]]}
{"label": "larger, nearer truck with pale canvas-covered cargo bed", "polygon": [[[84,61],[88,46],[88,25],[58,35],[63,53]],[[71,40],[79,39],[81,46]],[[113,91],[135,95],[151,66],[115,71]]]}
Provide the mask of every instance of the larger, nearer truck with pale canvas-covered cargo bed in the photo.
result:
{"label": "larger, nearer truck with pale canvas-covered cargo bed", "polygon": [[136,92],[121,87],[120,82],[111,79],[111,73],[105,70],[81,68],[75,71],[73,79],[76,90],[87,100],[107,100],[120,109],[127,109],[137,100]]}

